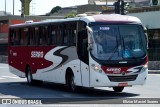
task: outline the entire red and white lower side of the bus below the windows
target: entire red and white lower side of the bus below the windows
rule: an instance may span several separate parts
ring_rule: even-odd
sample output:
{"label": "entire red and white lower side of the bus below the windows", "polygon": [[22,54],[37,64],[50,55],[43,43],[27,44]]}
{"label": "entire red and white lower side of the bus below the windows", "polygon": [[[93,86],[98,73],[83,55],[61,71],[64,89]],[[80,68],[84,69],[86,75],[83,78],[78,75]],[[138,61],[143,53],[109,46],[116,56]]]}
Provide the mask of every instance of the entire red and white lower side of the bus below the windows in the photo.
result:
{"label": "entire red and white lower side of the bus below the windows", "polygon": [[[21,48],[10,50],[12,51],[10,71],[15,72],[14,74],[19,72],[18,76],[25,77],[25,70],[28,65],[32,70],[33,79],[65,84],[65,72],[67,68],[71,68],[76,77],[77,85],[81,86],[80,60],[75,47],[61,46],[48,47],[48,49],[46,47],[28,47],[25,50],[27,51],[22,51]],[[13,52],[16,53],[16,56],[13,55]]]}

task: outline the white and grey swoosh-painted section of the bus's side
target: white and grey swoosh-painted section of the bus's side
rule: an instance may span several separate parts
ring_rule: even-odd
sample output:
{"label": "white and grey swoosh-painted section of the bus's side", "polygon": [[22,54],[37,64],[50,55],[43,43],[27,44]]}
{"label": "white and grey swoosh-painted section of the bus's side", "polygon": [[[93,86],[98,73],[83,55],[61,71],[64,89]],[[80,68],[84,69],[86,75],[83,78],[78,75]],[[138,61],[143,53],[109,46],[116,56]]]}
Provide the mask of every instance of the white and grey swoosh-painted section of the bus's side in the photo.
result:
{"label": "white and grey swoosh-painted section of the bus's side", "polygon": [[38,69],[36,74],[33,74],[35,79],[65,84],[66,71],[71,68],[76,78],[76,84],[81,86],[80,60],[75,47],[56,47],[45,55],[45,59],[54,64]]}

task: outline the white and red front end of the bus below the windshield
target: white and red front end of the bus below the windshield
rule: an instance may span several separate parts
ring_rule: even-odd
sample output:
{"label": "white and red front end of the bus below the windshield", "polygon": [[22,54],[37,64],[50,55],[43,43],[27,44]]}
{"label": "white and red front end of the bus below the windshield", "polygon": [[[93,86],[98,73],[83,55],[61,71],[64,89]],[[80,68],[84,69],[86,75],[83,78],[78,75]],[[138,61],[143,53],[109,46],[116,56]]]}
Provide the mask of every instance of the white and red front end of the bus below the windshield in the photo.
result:
{"label": "white and red front end of the bus below the windshield", "polygon": [[[133,86],[133,85],[143,85],[146,82],[148,69],[145,69],[144,66],[148,63],[147,60],[144,62],[144,64],[140,66],[133,66],[133,67],[106,67],[102,66],[96,61],[94,61],[90,56],[90,87],[117,87],[121,84],[124,86]],[[105,69],[104,69],[104,68]],[[96,70],[97,68],[97,70]],[[106,73],[107,68],[109,68],[110,73]],[[138,71],[138,69],[140,70]],[[115,69],[115,71],[114,71]],[[121,69],[120,71],[117,71],[117,69]],[[138,72],[138,73],[136,73]],[[125,74],[123,74],[125,73]],[[124,76],[134,76],[137,75],[137,77],[134,77],[135,80],[124,80],[118,81],[118,79],[122,79]],[[111,76],[113,81],[109,79],[109,76]],[[119,78],[119,77],[122,78]],[[115,81],[114,77],[117,77],[117,81]],[[129,77],[127,77],[129,78]],[[130,78],[130,79],[134,79]]]}

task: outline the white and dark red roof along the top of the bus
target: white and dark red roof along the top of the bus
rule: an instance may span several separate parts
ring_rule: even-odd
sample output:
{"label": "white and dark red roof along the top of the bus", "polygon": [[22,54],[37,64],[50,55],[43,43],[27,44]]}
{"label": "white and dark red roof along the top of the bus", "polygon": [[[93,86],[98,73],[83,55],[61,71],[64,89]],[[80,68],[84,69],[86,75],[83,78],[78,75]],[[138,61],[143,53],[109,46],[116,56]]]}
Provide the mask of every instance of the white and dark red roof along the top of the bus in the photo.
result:
{"label": "white and dark red roof along the top of the bus", "polygon": [[79,21],[79,20],[85,21],[86,23],[89,23],[89,22],[141,23],[141,21],[137,17],[134,17],[134,16],[119,15],[119,14],[99,14],[99,15],[93,15],[93,16],[83,16],[83,17],[75,17],[75,18],[67,18],[67,19],[43,20],[40,22],[33,22],[33,23],[14,24],[14,25],[10,25],[10,28],[37,26],[41,24],[61,23],[61,22]]}

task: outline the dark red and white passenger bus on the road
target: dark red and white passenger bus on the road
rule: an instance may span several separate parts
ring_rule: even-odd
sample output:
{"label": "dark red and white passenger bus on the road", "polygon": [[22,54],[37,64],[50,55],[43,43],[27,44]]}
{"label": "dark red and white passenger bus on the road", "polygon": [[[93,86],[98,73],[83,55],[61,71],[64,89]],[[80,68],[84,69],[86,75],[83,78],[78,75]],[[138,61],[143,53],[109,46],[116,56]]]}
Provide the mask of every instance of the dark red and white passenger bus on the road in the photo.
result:
{"label": "dark red and white passenger bus on the road", "polygon": [[43,81],[79,87],[143,85],[147,39],[133,16],[99,14],[9,27],[9,70],[29,85]]}

